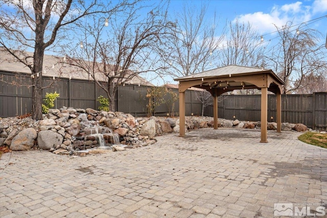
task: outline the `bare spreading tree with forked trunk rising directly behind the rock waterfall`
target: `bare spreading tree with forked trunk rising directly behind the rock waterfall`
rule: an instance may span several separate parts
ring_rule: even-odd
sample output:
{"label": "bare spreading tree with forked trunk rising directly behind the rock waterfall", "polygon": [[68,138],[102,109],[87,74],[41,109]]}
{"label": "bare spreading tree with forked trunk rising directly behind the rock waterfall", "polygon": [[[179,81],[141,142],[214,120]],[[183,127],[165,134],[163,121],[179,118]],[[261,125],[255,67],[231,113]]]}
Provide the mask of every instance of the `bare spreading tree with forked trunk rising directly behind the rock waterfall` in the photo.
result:
{"label": "bare spreading tree with forked trunk rising directly behind the rock waterfall", "polygon": [[119,85],[133,81],[140,74],[165,69],[153,51],[167,34],[167,28],[174,26],[167,19],[166,7],[165,4],[135,4],[109,20],[108,28],[97,20],[80,27],[84,32],[83,49],[74,45],[69,60],[106,91],[111,111],[115,111]]}

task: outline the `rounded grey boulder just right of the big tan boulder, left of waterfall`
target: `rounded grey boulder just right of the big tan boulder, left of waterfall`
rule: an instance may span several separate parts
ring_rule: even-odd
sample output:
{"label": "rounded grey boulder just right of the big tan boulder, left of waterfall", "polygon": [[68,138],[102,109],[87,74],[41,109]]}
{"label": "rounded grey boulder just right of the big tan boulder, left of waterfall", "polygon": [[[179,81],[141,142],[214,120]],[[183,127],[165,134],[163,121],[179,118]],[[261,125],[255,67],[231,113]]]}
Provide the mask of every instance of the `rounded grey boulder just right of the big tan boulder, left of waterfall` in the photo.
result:
{"label": "rounded grey boulder just right of the big tan boulder, left of waterfall", "polygon": [[60,145],[62,141],[63,136],[51,130],[40,131],[37,136],[38,146],[43,150],[50,150]]}

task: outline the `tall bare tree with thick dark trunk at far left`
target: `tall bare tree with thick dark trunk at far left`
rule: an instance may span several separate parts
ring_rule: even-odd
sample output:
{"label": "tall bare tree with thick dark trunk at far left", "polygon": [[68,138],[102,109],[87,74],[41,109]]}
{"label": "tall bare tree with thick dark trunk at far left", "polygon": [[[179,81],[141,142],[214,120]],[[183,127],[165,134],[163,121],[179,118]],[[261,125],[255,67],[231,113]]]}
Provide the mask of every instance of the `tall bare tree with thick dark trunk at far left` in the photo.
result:
{"label": "tall bare tree with thick dark trunk at far left", "polygon": [[[127,0],[110,3],[59,0],[4,0],[0,2],[0,45],[17,61],[30,68],[32,75],[32,118],[42,118],[42,67],[46,50],[55,49],[58,39],[63,42],[69,28],[82,17],[113,12],[133,4]],[[17,51],[30,50],[33,56]],[[28,60],[32,59],[33,62]],[[38,77],[36,76],[38,75]]]}

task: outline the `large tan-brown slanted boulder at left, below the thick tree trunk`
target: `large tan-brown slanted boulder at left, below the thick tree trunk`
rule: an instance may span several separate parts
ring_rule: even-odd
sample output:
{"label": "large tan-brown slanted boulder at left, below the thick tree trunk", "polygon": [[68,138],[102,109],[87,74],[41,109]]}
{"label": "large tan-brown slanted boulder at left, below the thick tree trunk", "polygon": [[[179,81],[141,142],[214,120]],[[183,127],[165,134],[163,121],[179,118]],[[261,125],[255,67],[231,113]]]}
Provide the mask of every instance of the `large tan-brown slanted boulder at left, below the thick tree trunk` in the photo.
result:
{"label": "large tan-brown slanted boulder at left, below the thick tree trunk", "polygon": [[34,128],[27,128],[20,131],[12,140],[10,149],[12,151],[26,151],[34,146],[37,132]]}

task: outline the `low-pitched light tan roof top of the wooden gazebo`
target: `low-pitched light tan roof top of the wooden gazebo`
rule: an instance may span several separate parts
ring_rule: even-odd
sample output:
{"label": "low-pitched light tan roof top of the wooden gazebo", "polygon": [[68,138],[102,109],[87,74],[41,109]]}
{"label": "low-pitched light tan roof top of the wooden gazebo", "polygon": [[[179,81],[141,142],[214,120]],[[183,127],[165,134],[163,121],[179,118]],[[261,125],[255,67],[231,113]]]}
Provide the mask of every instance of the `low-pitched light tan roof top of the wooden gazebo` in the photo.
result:
{"label": "low-pitched light tan roof top of the wooden gazebo", "polygon": [[275,73],[271,69],[265,69],[260,67],[248,67],[248,66],[239,66],[239,65],[227,65],[223,67],[218,67],[216,69],[211,69],[203,72],[199,72],[198,74],[192,74],[185,77],[180,77],[174,79],[175,81],[188,81],[192,79],[199,78],[219,78],[226,76],[240,76],[240,75],[251,75],[251,74],[261,74],[264,71],[269,71],[269,74],[274,77],[277,81],[284,84],[284,82],[275,75]]}

